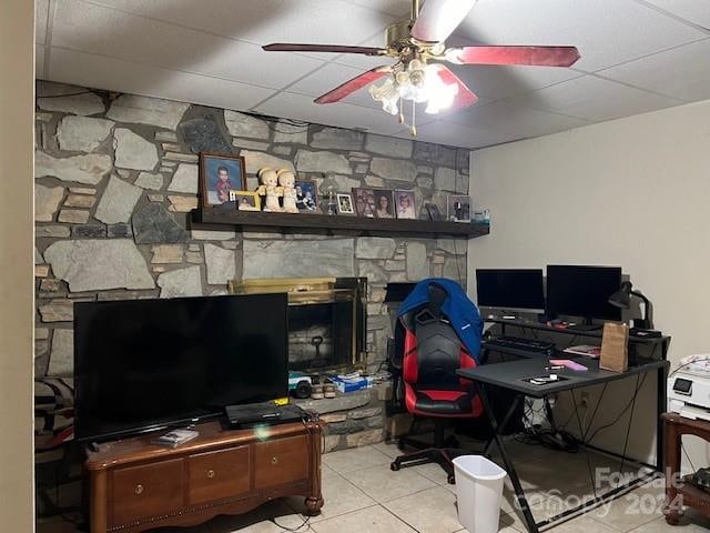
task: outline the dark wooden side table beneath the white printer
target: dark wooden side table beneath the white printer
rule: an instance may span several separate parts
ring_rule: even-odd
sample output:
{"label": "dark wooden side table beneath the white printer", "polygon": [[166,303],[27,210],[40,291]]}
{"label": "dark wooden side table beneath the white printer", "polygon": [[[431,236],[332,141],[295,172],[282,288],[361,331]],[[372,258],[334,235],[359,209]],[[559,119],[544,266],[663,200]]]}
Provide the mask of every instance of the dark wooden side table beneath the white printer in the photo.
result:
{"label": "dark wooden side table beneath the white printer", "polygon": [[681,438],[696,435],[710,442],[710,422],[683,419],[677,413],[661,414],[666,430],[666,522],[677,525],[682,506],[694,507],[710,516],[710,492],[680,477]]}

